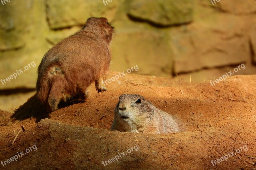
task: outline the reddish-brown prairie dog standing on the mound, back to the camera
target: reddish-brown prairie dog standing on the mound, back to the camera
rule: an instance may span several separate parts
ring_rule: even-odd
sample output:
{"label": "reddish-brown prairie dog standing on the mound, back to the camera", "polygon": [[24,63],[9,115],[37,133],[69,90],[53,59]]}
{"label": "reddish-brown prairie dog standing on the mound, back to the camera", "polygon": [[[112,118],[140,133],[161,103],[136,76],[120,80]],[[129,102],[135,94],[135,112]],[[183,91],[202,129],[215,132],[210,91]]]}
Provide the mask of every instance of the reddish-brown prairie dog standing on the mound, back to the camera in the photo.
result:
{"label": "reddish-brown prairie dog standing on the mound, back to the camera", "polygon": [[106,91],[101,81],[109,69],[113,29],[107,18],[89,18],[83,29],[44,55],[38,67],[36,91],[48,111],[57,110],[60,101],[77,94],[85,99],[92,82],[98,92]]}

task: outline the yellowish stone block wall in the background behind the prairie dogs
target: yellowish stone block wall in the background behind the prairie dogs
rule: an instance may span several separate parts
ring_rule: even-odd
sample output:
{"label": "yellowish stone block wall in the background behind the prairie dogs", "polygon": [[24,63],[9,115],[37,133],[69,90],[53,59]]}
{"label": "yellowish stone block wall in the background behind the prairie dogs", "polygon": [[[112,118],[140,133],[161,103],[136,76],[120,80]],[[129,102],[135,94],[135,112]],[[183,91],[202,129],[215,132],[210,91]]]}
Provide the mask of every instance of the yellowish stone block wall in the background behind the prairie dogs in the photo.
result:
{"label": "yellowish stone block wall in the background behind the prairie dogs", "polygon": [[255,74],[255,12],[255,0],[11,0],[0,4],[0,79],[36,67],[0,89],[34,88],[43,55],[89,17],[116,29],[112,70],[203,81],[244,63],[237,74]]}

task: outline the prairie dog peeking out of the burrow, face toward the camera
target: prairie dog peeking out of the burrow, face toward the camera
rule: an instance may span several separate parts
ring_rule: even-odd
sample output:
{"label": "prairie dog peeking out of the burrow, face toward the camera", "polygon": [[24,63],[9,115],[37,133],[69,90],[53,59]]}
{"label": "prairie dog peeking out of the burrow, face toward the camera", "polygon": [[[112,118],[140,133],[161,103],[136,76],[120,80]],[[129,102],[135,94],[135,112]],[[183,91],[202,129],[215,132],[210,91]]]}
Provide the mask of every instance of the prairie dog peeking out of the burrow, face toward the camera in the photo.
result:
{"label": "prairie dog peeking out of the burrow, face toward the camera", "polygon": [[115,109],[111,130],[123,132],[172,133],[181,131],[177,119],[137,94],[123,94]]}

